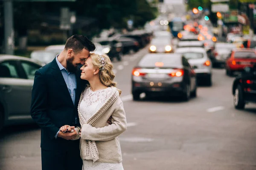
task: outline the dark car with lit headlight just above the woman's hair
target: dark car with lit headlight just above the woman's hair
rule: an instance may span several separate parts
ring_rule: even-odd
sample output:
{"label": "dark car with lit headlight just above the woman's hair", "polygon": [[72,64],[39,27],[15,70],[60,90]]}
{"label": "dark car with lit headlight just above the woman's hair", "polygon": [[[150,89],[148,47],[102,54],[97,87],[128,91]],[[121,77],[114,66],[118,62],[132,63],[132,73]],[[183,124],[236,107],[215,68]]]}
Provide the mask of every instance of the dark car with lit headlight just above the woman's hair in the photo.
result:
{"label": "dark car with lit headlight just above the woman's hair", "polygon": [[111,61],[113,61],[114,58],[116,58],[117,61],[122,60],[122,43],[117,40],[111,40],[110,38],[98,38],[95,42],[102,45],[102,52],[107,54]]}

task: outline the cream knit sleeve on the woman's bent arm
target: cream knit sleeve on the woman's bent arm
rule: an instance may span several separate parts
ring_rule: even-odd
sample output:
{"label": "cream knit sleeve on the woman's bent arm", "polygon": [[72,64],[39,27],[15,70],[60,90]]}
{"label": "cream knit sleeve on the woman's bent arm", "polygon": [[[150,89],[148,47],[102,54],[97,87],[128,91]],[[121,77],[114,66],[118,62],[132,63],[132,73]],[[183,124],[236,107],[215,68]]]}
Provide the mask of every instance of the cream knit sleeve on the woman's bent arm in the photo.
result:
{"label": "cream knit sleeve on the woman's bent arm", "polygon": [[90,124],[84,124],[81,130],[81,139],[90,141],[109,141],[116,138],[126,130],[126,118],[123,104],[113,112],[112,124],[96,128]]}

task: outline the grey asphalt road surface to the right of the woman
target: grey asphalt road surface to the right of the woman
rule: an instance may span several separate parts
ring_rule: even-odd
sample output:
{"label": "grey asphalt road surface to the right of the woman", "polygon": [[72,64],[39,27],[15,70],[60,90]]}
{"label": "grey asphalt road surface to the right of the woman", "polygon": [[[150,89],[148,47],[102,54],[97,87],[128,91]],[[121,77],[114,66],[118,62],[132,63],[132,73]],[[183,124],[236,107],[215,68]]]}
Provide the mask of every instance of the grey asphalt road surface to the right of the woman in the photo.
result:
{"label": "grey asphalt road surface to the right of the woman", "polygon": [[120,137],[124,167],[255,169],[256,107],[234,109],[233,79],[214,69],[213,86],[199,87],[189,102],[125,102],[127,121],[135,126]]}

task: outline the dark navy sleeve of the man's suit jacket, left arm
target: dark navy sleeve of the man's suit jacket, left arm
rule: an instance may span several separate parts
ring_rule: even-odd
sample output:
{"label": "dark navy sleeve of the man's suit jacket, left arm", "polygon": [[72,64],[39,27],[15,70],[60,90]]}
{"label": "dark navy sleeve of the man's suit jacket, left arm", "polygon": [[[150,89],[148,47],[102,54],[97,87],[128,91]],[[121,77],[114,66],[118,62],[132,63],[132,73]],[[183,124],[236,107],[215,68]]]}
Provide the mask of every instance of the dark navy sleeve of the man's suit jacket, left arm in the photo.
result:
{"label": "dark navy sleeve of the man's suit jacket, left arm", "polygon": [[47,86],[40,70],[35,72],[34,85],[32,88],[32,101],[30,114],[33,120],[47,131],[49,138],[54,139],[59,128],[52,123],[47,115]]}

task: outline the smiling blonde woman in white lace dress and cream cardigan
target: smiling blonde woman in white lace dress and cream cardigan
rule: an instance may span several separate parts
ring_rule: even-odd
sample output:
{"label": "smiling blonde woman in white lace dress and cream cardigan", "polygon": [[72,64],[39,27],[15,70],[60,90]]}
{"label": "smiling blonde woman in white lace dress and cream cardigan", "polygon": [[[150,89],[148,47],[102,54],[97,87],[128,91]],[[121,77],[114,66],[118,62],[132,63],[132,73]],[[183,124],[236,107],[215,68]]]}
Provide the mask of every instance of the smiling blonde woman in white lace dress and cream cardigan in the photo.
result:
{"label": "smiling blonde woman in white lace dress and cream cardigan", "polygon": [[[91,53],[81,67],[87,80],[79,101],[80,155],[83,170],[123,170],[118,135],[126,130],[121,91],[116,89],[113,65],[107,55]],[[111,124],[106,123],[112,117]],[[61,127],[65,131],[67,127]]]}

